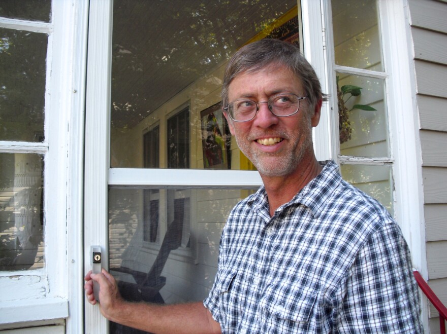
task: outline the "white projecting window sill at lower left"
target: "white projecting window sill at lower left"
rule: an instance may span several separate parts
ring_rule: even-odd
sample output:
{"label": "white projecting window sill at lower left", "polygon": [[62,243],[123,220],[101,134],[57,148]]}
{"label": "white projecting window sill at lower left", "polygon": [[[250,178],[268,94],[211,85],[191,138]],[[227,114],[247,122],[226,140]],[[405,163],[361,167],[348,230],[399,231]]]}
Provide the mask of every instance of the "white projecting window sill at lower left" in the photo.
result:
{"label": "white projecting window sill at lower left", "polygon": [[65,319],[68,300],[63,298],[27,299],[3,302],[0,305],[0,324]]}

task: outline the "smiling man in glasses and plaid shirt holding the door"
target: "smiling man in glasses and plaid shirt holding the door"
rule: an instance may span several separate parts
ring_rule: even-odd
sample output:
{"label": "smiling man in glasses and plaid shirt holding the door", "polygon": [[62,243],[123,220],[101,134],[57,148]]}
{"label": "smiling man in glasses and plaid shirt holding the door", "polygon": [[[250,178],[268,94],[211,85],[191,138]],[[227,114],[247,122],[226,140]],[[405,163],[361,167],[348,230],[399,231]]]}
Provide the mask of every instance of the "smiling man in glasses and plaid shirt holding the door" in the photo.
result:
{"label": "smiling man in glasses and plaid shirt holding the door", "polygon": [[318,163],[312,127],[325,96],[291,44],[262,40],[230,60],[222,102],[230,131],[263,187],[231,212],[218,272],[203,303],[124,302],[113,277],[100,284],[108,319],[151,332],[422,332],[410,256],[394,219]]}

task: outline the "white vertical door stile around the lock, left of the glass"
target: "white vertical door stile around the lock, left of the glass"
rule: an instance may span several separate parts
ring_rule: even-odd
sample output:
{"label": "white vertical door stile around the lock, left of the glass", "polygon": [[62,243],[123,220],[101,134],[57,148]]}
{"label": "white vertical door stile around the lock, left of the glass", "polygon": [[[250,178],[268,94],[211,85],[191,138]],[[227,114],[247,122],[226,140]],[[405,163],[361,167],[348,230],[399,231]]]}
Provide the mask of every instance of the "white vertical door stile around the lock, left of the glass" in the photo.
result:
{"label": "white vertical door stile around the lock, left of the glass", "polygon": [[[90,268],[90,246],[101,246],[108,269],[109,113],[113,1],[90,1],[85,97],[84,272]],[[107,38],[105,38],[105,36]],[[99,307],[84,302],[85,332],[108,333]]]}

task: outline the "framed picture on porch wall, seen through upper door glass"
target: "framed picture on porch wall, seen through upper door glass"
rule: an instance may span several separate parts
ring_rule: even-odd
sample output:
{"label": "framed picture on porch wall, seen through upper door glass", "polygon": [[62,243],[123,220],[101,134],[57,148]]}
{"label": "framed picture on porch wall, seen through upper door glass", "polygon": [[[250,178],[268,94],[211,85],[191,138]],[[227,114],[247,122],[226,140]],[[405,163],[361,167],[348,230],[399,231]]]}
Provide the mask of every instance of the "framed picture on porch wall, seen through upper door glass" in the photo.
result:
{"label": "framed picture on porch wall, seen through upper door glass", "polygon": [[220,106],[220,102],[216,103],[200,113],[203,168],[206,169],[231,169],[231,134]]}

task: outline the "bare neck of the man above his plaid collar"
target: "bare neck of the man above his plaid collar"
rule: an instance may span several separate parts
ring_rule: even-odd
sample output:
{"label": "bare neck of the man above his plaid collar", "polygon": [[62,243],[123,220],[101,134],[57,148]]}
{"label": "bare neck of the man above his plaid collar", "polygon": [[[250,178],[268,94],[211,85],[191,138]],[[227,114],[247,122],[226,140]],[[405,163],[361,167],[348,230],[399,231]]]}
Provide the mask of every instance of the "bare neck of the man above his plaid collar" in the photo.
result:
{"label": "bare neck of the man above his plaid collar", "polygon": [[284,176],[261,175],[268,196],[270,216],[273,216],[278,207],[292,200],[321,171],[321,165],[312,156],[308,161],[302,161],[299,168],[292,174]]}

